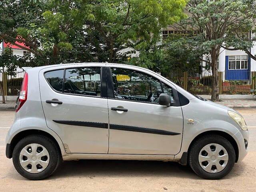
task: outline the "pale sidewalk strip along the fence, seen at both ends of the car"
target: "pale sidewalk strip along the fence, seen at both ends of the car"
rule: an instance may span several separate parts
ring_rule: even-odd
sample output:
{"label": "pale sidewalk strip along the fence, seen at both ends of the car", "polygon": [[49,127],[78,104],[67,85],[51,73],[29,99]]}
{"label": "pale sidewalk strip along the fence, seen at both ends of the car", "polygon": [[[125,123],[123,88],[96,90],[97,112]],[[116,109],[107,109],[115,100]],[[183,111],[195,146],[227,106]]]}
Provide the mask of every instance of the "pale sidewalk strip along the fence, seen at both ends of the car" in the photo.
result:
{"label": "pale sidewalk strip along the fence, seen at both ends of the car", "polygon": [[[256,99],[226,99],[216,103],[230,108],[256,108]],[[15,101],[6,101],[6,104],[0,101],[0,110],[15,110],[15,106]]]}

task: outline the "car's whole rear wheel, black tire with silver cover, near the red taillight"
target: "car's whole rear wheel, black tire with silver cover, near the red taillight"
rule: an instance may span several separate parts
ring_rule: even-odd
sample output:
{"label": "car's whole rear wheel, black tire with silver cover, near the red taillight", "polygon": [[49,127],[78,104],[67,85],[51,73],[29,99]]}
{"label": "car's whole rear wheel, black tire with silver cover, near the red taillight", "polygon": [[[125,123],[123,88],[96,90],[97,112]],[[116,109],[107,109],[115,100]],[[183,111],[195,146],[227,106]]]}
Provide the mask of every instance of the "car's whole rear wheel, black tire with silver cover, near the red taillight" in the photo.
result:
{"label": "car's whole rear wheel, black tire with silver cover, near the red taillight", "polygon": [[[36,155],[34,155],[34,151],[36,151]],[[39,154],[40,152],[42,153]],[[25,161],[31,162],[31,164]],[[43,135],[32,134],[22,138],[16,144],[12,154],[12,162],[17,172],[23,177],[30,180],[41,180],[53,174],[62,162],[62,156],[52,139]],[[26,164],[28,165],[26,166]]]}

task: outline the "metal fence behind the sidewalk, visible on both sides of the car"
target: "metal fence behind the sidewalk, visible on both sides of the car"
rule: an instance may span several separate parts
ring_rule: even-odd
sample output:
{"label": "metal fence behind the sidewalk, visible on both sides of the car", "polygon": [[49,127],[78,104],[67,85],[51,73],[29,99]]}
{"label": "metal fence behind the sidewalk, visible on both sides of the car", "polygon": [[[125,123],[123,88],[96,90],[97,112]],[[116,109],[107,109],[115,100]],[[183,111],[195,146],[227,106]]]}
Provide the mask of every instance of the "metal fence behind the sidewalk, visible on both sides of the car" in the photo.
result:
{"label": "metal fence behind the sidewalk, visible on both sides of the car", "polygon": [[[24,73],[22,69],[18,69],[15,76],[0,72],[0,82],[3,83],[5,95],[18,95]],[[251,94],[250,90],[256,89],[256,79],[252,78],[256,76],[256,72],[229,70],[218,72],[218,74],[220,94]],[[195,95],[210,95],[212,92],[212,73],[210,71],[176,71],[170,72],[166,78]]]}

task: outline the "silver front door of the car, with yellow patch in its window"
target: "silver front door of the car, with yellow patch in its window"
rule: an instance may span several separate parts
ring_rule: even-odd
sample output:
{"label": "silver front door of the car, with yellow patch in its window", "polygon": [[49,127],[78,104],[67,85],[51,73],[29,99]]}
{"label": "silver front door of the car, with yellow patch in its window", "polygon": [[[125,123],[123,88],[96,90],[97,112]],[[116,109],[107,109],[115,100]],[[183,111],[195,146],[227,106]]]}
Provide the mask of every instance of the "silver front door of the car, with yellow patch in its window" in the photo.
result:
{"label": "silver front door of the car, with yellow patch in its window", "polygon": [[172,102],[174,88],[138,70],[110,69],[113,98],[108,99],[109,154],[166,154],[180,151],[183,115],[180,106],[161,106],[159,95]]}

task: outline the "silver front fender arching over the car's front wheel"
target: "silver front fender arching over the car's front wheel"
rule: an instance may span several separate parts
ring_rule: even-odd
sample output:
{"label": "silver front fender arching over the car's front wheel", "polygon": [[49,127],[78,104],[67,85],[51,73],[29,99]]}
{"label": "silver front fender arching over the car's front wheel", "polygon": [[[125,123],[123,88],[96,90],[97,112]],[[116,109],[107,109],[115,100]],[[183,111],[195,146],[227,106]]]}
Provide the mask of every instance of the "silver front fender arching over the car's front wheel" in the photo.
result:
{"label": "silver front fender arching over the car's front wheel", "polygon": [[[236,141],[238,150],[241,150],[240,127],[230,118],[227,109],[199,99],[192,99],[188,105],[182,107],[182,112],[184,116],[182,146],[180,153],[175,155],[175,160],[180,159],[183,152],[188,152],[194,138],[208,131],[220,131],[229,134]],[[190,124],[188,119],[193,119],[194,124]]]}

